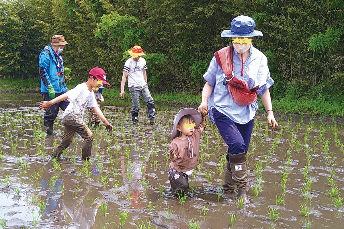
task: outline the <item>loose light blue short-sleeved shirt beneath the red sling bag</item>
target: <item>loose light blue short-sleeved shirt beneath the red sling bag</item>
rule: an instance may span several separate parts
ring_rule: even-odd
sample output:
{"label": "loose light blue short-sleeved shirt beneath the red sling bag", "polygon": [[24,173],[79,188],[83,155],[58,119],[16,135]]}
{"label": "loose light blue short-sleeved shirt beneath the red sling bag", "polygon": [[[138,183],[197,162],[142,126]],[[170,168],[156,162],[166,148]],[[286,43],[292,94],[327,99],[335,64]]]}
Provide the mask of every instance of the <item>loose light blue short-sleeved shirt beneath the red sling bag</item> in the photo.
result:
{"label": "loose light blue short-sleeved shirt beneath the red sling bag", "polygon": [[[235,49],[233,66],[234,75],[238,79],[246,81],[248,88],[259,86],[257,90],[259,96],[262,96],[275,82],[270,77],[268,59],[253,45],[251,45],[250,55],[244,63],[244,75],[241,76],[241,60]],[[213,86],[213,92],[208,100],[210,121],[215,123],[211,112],[211,108],[215,107],[216,110],[228,116],[233,122],[246,124],[255,117],[258,110],[258,101],[247,106],[238,105],[230,95],[227,85],[223,85],[224,77],[226,76],[214,56],[210,61],[207,72],[203,75],[203,78]]]}

